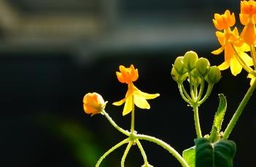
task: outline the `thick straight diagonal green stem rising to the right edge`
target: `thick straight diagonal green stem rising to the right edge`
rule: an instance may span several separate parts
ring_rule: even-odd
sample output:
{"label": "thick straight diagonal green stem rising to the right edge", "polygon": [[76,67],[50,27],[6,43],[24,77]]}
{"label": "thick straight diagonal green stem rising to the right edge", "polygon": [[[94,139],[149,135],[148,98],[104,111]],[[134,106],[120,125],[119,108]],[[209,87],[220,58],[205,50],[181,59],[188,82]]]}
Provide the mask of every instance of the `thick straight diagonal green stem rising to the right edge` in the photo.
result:
{"label": "thick straight diagonal green stem rising to the right edge", "polygon": [[256,81],[254,83],[252,83],[252,86],[248,89],[247,94],[245,94],[244,99],[241,101],[240,105],[236,109],[236,112],[233,115],[233,118],[228,123],[228,126],[225,129],[224,134],[223,134],[223,139],[228,139],[234,126],[236,126],[236,122],[238,121],[238,118],[240,117],[241,113],[243,112],[244,107],[247,105],[247,102],[249,101],[250,97],[252,97],[252,94],[255,91],[255,88],[256,88]]}

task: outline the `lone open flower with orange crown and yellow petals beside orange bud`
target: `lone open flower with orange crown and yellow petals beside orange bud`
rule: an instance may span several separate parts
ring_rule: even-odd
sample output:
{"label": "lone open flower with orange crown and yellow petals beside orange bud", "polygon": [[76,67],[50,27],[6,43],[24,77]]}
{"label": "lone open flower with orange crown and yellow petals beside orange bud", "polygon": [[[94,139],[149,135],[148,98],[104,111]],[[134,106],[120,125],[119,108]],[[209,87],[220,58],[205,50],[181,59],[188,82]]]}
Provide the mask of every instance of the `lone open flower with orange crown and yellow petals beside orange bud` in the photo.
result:
{"label": "lone open flower with orange crown and yellow petals beside orange bud", "polygon": [[133,81],[139,78],[139,74],[138,70],[134,69],[133,65],[131,65],[130,68],[125,68],[123,65],[120,65],[119,69],[120,72],[117,72],[117,79],[121,83],[128,84],[128,91],[124,99],[114,102],[113,105],[119,106],[125,103],[123,115],[130,113],[131,110],[133,110],[134,104],[142,109],[150,109],[150,104],[147,102],[147,99],[155,99],[160,94],[147,94],[134,86]]}

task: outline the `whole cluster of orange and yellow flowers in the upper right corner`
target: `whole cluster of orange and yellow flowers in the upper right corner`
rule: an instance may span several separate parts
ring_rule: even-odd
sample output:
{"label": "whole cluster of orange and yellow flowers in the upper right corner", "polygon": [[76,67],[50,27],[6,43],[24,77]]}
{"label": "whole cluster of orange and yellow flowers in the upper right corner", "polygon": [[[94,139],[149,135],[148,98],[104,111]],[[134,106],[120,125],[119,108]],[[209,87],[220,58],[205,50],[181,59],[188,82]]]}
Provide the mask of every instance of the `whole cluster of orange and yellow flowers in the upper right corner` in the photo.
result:
{"label": "whole cluster of orange and yellow flowers in the upper right corner", "polygon": [[[240,35],[236,27],[232,28],[236,23],[234,13],[231,14],[227,9],[222,15],[214,14],[213,23],[217,28],[216,36],[221,47],[214,50],[212,54],[220,54],[224,51],[224,62],[218,68],[220,70],[230,68],[234,76],[241,73],[244,68],[249,73],[248,77],[252,78],[252,84],[256,77],[256,2],[253,0],[241,1],[240,8],[240,23],[244,25]],[[247,54],[248,52],[251,53],[250,56]],[[254,68],[250,66],[254,66]]]}

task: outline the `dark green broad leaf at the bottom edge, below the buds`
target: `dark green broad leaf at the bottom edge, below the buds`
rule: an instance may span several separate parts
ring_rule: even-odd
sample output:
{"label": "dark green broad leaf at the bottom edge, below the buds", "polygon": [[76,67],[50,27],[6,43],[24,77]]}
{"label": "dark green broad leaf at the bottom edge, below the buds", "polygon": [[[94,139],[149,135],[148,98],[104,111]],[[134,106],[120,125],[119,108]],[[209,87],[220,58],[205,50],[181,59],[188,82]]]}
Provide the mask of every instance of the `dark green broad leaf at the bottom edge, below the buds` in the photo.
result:
{"label": "dark green broad leaf at the bottom edge, below the buds", "polygon": [[233,141],[220,139],[211,143],[209,139],[195,139],[196,167],[233,167],[236,144]]}

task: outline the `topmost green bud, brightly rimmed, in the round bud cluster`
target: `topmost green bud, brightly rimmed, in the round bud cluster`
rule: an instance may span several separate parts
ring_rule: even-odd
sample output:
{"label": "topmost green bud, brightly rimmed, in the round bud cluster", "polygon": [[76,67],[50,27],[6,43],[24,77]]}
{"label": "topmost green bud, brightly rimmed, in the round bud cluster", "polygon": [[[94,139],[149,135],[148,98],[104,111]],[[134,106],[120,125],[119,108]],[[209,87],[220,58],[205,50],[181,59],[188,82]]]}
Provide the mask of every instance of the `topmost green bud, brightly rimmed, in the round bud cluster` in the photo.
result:
{"label": "topmost green bud, brightly rimmed, in the round bud cluster", "polygon": [[193,51],[186,52],[183,58],[183,64],[187,71],[190,72],[195,68],[195,63],[198,60],[198,54]]}

